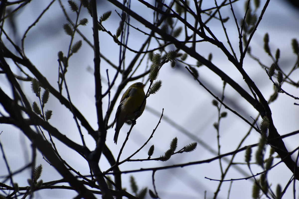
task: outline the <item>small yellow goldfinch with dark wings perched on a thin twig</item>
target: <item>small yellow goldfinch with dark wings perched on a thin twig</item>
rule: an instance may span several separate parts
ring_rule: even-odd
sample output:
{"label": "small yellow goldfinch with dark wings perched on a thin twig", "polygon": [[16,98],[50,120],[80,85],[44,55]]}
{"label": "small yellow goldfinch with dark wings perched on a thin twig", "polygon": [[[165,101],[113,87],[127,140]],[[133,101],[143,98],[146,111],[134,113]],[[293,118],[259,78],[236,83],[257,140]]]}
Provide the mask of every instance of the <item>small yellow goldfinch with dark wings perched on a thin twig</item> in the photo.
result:
{"label": "small yellow goldfinch with dark wings perched on a thin twig", "polygon": [[[123,93],[123,97],[120,100],[118,108],[115,114],[116,121],[115,134],[114,134],[114,143],[117,144],[117,138],[119,134],[120,128],[123,124],[128,120],[134,120],[135,117],[139,117],[144,111],[146,100],[142,104],[145,93],[144,93],[144,84],[141,82],[137,82],[132,84],[125,93]],[[142,107],[140,107],[142,104]],[[113,128],[113,126],[112,126]]]}

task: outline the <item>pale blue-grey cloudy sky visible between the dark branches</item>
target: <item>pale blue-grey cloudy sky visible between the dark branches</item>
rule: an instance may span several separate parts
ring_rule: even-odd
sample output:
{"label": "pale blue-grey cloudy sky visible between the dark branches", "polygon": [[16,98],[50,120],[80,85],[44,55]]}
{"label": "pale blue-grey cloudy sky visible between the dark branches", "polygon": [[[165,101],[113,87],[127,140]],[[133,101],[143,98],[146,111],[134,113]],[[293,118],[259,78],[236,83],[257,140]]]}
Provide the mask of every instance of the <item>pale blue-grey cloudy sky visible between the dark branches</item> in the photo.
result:
{"label": "pale blue-grey cloudy sky visible between the dark branches", "polygon": [[[153,4],[153,1],[149,1]],[[212,1],[210,1],[212,2]],[[210,3],[209,2],[209,3]],[[245,1],[244,1],[245,2]],[[243,17],[244,6],[243,1],[235,4],[234,10],[238,18]],[[262,1],[264,2],[264,1]],[[28,28],[37,16],[45,9],[48,1],[33,0],[25,6],[16,16],[17,32],[13,38],[20,44],[24,31]],[[75,20],[74,13],[68,8],[67,1],[65,3],[65,9],[70,14],[72,20]],[[204,5],[210,7],[210,5]],[[212,5],[213,6],[213,5]],[[138,11],[145,18],[150,19],[152,16],[152,10],[149,10],[146,6],[132,1],[132,10]],[[112,34],[115,34],[115,30],[118,27],[119,17],[115,12],[116,9],[112,4],[106,1],[101,1],[98,4],[98,16],[102,13],[112,10],[112,16],[108,21],[103,22],[103,25],[110,30]],[[119,12],[119,10],[118,10]],[[229,32],[232,45],[238,46],[238,35],[234,20],[231,15],[230,7],[222,9],[222,17],[230,17],[230,21],[227,23],[227,30]],[[85,36],[92,41],[91,32],[91,20],[87,15],[86,10],[83,9],[81,18],[89,18],[89,24],[86,27],[82,27],[82,31]],[[292,53],[291,40],[292,38],[298,38],[299,33],[299,12],[285,1],[272,0],[266,10],[265,15],[254,34],[251,41],[252,52],[259,57],[261,61],[270,66],[272,64],[269,56],[263,51],[263,36],[265,33],[269,33],[270,47],[275,52],[277,48],[280,48],[281,59],[280,65],[288,70],[292,67],[296,57]],[[25,39],[25,54],[30,61],[38,68],[38,70],[45,74],[47,80],[57,88],[57,53],[63,51],[65,54],[68,49],[70,37],[65,35],[62,29],[62,25],[67,21],[62,13],[58,1],[54,2],[53,6],[43,16],[39,23],[33,27]],[[131,21],[136,26],[141,26]],[[223,43],[226,42],[225,36],[220,22],[212,21],[208,24],[210,29],[217,34],[219,40]],[[6,27],[9,28],[9,27]],[[147,32],[149,30],[144,27],[140,27]],[[132,29],[131,29],[132,30]],[[13,34],[13,30],[8,31]],[[134,31],[130,33],[129,47],[133,49],[139,49],[140,44],[143,42],[145,36],[134,36]],[[3,36],[2,36],[3,37]],[[76,35],[75,41],[81,39],[79,35]],[[6,43],[8,44],[8,42]],[[225,43],[226,45],[226,43]],[[109,58],[114,64],[118,64],[118,50],[117,44],[113,43],[113,39],[106,33],[100,32],[100,50],[107,58]],[[172,50],[169,48],[168,50]],[[237,72],[234,66],[228,62],[227,58],[217,49],[210,44],[200,43],[197,45],[197,52],[204,57],[207,57],[209,53],[213,54],[212,62],[223,71],[227,72],[237,81],[241,86],[246,87],[245,82],[242,80],[242,76]],[[94,129],[97,129],[97,119],[94,107],[94,79],[93,72],[88,70],[89,67],[93,67],[93,50],[85,42],[80,51],[73,57],[71,57],[66,74],[66,81],[68,89],[70,91],[71,100],[73,104],[80,110],[80,112],[89,121],[89,124]],[[134,53],[128,53],[126,55],[125,63],[128,64]],[[188,58],[187,62],[192,63],[192,58]],[[11,61],[9,62],[12,66]],[[144,62],[144,64],[146,64]],[[194,61],[193,64],[196,64]],[[246,72],[252,77],[254,82],[261,89],[263,95],[266,98],[273,93],[273,84],[269,80],[267,74],[262,70],[258,64],[250,59],[245,58],[244,68]],[[110,79],[113,78],[115,70],[111,68],[105,61],[101,61],[101,74],[103,80],[103,91],[107,88],[106,83],[106,69],[109,69]],[[13,69],[16,74],[20,74],[17,69]],[[209,71],[206,67],[200,67],[199,79],[217,96],[220,97],[222,91],[222,81],[213,72]],[[296,71],[293,77],[299,77],[298,71]],[[178,137],[178,149],[190,144],[191,142],[198,141],[198,139],[207,143],[211,149],[217,151],[217,139],[216,130],[213,127],[213,123],[217,121],[217,109],[213,107],[211,101],[213,97],[208,94],[193,77],[190,76],[184,69],[183,65],[177,66],[175,69],[170,67],[170,63],[165,64],[158,79],[163,81],[161,90],[155,95],[150,96],[147,99],[147,107],[143,115],[138,118],[129,141],[123,151],[120,160],[125,159],[133,152],[135,152],[152,133],[152,129],[157,125],[162,109],[164,108],[164,119],[162,119],[154,137],[148,143],[148,145],[133,158],[147,158],[147,150],[152,144],[155,145],[155,152],[153,158],[164,155],[164,152],[169,148],[169,143],[174,137]],[[295,80],[298,78],[294,78]],[[118,82],[121,81],[119,76]],[[143,81],[142,79],[140,81]],[[129,86],[129,85],[128,85]],[[148,86],[148,85],[147,85]],[[298,89],[285,85],[288,92],[293,95],[297,95]],[[4,75],[0,76],[0,87],[2,89],[9,90],[10,86],[7,84]],[[30,82],[22,83],[22,87],[28,94],[29,101],[37,101],[36,96],[31,93]],[[146,87],[147,88],[147,87]],[[64,89],[65,91],[65,89]],[[112,96],[115,92],[112,90]],[[65,95],[65,93],[64,93]],[[65,95],[66,96],[66,95]],[[182,98],[181,96],[188,96]],[[118,99],[118,101],[120,98]],[[231,108],[240,112],[249,121],[252,118],[257,117],[257,112],[254,111],[242,97],[240,97],[231,87],[227,87],[225,93],[225,102]],[[295,100],[286,95],[280,94],[278,100],[271,104],[274,124],[278,132],[283,135],[295,130],[298,130],[298,106],[294,106]],[[298,103],[298,102],[297,102]],[[103,100],[103,106],[106,108],[108,104],[108,98]],[[284,111],[282,111],[282,107]],[[105,109],[104,108],[104,109]],[[51,109],[53,116],[49,121],[51,125],[59,129],[62,134],[65,134],[68,138],[71,138],[75,142],[81,144],[80,135],[78,133],[77,126],[73,120],[73,116],[68,109],[65,109],[60,102],[50,95],[48,104],[45,109]],[[287,110],[287,111],[286,111]],[[289,110],[289,111],[288,111]],[[3,108],[0,107],[1,113],[4,113]],[[109,124],[114,120],[115,109],[110,118]],[[222,111],[228,111],[223,109]],[[166,119],[170,118],[180,127],[184,128],[186,132],[182,132],[170,124]],[[251,120],[250,120],[251,119]],[[232,122],[233,121],[233,122]],[[259,124],[260,120],[258,121]],[[126,132],[129,130],[129,125],[124,125],[120,131],[118,142],[122,143],[126,137]],[[228,117],[224,118],[221,122],[221,153],[230,152],[236,149],[239,144],[239,140],[247,133],[248,125],[235,116],[233,113],[228,112]],[[25,163],[28,163],[28,157],[30,159],[30,141],[22,134],[18,129],[12,128],[10,125],[0,125],[1,143],[4,146],[5,153],[8,157],[8,162],[11,169],[14,171],[19,169]],[[86,139],[87,146],[93,150],[95,146],[94,140],[86,133],[84,138]],[[249,144],[255,144],[259,140],[259,134],[257,132],[251,132],[251,136],[245,141],[243,146]],[[190,136],[193,135],[193,136]],[[113,142],[114,129],[108,129],[106,144],[115,156],[117,156],[121,145],[115,145]],[[194,139],[196,138],[196,139]],[[78,154],[74,153],[71,149],[63,146],[59,141],[54,140],[57,144],[58,151],[65,161],[74,166],[83,175],[89,175],[89,167],[86,161]],[[286,138],[285,144],[289,150],[298,147],[298,135]],[[29,155],[28,155],[29,154]],[[186,163],[190,161],[205,160],[215,157],[215,155],[208,150],[207,147],[199,145],[194,152],[176,154],[166,162],[160,161],[147,161],[147,162],[133,162],[124,163],[120,165],[120,170],[132,170],[140,168],[149,168],[157,166],[167,166],[178,163]],[[2,158],[2,157],[1,157]],[[236,162],[244,162],[243,154],[237,155]],[[61,179],[61,176],[42,159],[42,155],[38,154],[37,164],[42,164],[44,172],[41,179],[44,182]],[[225,163],[224,163],[225,165]],[[100,167],[103,171],[110,166],[106,159],[103,157],[100,161]],[[249,174],[247,166],[242,167]],[[254,173],[260,171],[258,167],[253,167]],[[0,176],[6,175],[7,170],[4,161],[0,159]],[[131,174],[124,174],[122,176],[123,187],[126,187],[129,192],[129,176]],[[147,186],[149,189],[152,187],[152,172],[138,172],[133,174],[139,187]],[[286,168],[284,164],[280,164],[271,171],[269,175],[269,181],[272,183],[271,187],[275,190],[277,183],[280,183],[282,187],[286,185],[292,173]],[[219,179],[219,161],[213,161],[208,164],[200,164],[187,166],[184,168],[162,170],[155,173],[155,183],[157,186],[158,194],[161,198],[203,198],[204,192],[207,191],[207,198],[213,197],[218,182],[210,181],[205,177]],[[242,178],[245,177],[231,168],[225,179]],[[22,172],[19,175],[14,176],[14,181],[19,183],[19,186],[27,186],[27,179],[30,178],[29,171]],[[298,183],[297,183],[298,184]],[[298,185],[296,184],[296,188]],[[230,186],[230,182],[226,182],[222,185],[222,191],[219,194],[219,198],[227,198],[227,190]],[[231,198],[251,198],[252,182],[248,181],[236,181],[232,184]],[[285,198],[292,197],[292,188],[288,190]],[[51,190],[45,189],[35,193],[34,198],[72,198],[76,195],[73,191],[68,190]],[[100,196],[99,196],[100,198]]]}

